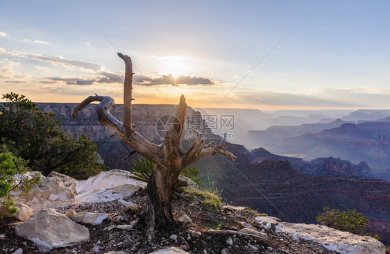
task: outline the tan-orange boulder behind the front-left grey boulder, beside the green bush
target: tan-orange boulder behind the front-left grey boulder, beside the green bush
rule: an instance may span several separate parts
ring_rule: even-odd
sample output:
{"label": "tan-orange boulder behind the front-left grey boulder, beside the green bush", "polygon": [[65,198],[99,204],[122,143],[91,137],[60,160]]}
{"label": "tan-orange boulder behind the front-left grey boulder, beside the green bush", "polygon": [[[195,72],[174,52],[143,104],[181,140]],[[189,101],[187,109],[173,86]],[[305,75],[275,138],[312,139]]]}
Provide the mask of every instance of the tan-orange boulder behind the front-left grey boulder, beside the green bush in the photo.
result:
{"label": "tan-orange boulder behind the front-left grey boulder, beside the green bush", "polygon": [[28,205],[34,211],[72,205],[76,201],[73,192],[56,178],[42,178],[28,194],[12,194],[16,203]]}

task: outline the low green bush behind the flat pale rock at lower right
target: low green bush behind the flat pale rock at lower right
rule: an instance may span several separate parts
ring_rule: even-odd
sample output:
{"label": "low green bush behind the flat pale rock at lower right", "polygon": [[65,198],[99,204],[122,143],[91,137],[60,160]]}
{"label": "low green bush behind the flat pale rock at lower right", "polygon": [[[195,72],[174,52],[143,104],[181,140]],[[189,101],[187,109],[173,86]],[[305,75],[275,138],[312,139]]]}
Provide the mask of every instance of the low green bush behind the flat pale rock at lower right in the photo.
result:
{"label": "low green bush behind the flat pale rock at lower right", "polygon": [[355,210],[346,210],[340,212],[340,210],[332,209],[328,207],[323,208],[323,212],[319,212],[319,216],[316,220],[322,225],[328,226],[341,231],[351,232],[356,235],[368,235],[379,239],[378,235],[371,235],[366,232],[366,226],[368,219]]}

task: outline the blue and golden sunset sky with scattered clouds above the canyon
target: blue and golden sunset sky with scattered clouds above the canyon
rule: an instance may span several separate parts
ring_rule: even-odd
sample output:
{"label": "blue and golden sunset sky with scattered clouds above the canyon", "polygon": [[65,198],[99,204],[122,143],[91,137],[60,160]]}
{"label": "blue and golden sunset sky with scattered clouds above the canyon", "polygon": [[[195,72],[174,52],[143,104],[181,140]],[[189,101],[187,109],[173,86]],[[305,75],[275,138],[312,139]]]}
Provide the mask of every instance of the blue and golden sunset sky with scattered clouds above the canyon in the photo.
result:
{"label": "blue and golden sunset sky with scattered clouds above the canyon", "polygon": [[123,103],[121,51],[134,103],[387,109],[389,13],[390,1],[0,0],[0,94]]}

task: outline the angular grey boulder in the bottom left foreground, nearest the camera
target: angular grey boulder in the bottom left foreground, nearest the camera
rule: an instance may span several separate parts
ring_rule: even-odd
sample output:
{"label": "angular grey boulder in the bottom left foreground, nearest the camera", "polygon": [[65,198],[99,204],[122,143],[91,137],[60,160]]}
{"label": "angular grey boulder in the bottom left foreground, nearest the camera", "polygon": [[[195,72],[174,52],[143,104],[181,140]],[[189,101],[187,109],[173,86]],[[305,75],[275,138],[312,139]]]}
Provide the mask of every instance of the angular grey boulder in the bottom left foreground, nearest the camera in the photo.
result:
{"label": "angular grey boulder in the bottom left foreground, nearest the camera", "polygon": [[17,225],[16,233],[34,242],[41,252],[80,244],[90,239],[90,232],[85,226],[71,221],[54,209],[35,212],[30,219]]}

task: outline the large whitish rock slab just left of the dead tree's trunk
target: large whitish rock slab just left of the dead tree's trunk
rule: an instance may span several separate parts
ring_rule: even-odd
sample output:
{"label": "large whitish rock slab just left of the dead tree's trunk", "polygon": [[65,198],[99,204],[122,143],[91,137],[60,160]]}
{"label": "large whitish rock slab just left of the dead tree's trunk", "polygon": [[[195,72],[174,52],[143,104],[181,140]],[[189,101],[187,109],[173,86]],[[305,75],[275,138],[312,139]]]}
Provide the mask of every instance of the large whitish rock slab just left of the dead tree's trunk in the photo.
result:
{"label": "large whitish rock slab just left of the dead tree's trunk", "polygon": [[113,169],[102,171],[96,176],[91,176],[87,180],[78,181],[76,191],[80,194],[91,192],[96,189],[107,189],[118,185],[134,185],[146,187],[146,183],[130,178],[131,173],[128,171]]}

